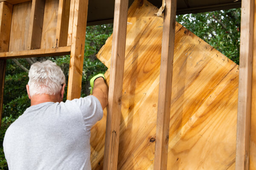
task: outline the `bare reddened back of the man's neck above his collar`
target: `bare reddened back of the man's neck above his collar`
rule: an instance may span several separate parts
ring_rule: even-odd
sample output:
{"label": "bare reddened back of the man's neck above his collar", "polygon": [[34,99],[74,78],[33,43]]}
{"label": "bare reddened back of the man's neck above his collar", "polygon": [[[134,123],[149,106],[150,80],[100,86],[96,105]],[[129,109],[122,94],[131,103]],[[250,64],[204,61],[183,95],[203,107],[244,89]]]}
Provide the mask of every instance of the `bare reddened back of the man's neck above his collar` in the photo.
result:
{"label": "bare reddened back of the man's neck above his collar", "polygon": [[44,102],[61,102],[61,100],[60,100],[60,96],[49,95],[49,94],[40,94],[40,95],[34,95],[31,97],[31,106],[38,105]]}

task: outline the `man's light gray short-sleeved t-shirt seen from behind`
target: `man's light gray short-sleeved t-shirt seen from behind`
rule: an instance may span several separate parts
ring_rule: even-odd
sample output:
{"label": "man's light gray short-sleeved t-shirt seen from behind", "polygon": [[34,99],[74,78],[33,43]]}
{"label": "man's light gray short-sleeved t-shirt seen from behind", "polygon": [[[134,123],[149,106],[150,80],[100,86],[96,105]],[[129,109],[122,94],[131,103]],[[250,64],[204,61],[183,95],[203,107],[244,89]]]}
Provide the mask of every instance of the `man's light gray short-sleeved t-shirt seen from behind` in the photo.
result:
{"label": "man's light gray short-sleeved t-shirt seen from behind", "polygon": [[90,170],[90,129],[102,116],[95,96],[27,108],[4,137],[9,170]]}

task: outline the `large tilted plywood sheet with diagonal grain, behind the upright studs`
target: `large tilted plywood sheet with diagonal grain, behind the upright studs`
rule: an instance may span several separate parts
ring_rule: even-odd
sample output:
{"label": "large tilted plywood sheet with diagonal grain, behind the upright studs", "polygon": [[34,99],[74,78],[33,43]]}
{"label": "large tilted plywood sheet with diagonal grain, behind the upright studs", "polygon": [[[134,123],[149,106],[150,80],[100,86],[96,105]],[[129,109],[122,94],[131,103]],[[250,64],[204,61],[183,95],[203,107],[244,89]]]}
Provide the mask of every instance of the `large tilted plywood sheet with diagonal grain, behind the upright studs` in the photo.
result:
{"label": "large tilted plywood sheet with diagonal grain, behind the upright studs", "polygon": [[[147,1],[128,11],[117,169],[154,167],[163,18]],[[170,113],[170,170],[233,170],[238,65],[176,24]],[[110,68],[112,36],[97,57]],[[105,74],[109,82],[109,71]],[[103,167],[106,110],[91,130],[91,164]]]}

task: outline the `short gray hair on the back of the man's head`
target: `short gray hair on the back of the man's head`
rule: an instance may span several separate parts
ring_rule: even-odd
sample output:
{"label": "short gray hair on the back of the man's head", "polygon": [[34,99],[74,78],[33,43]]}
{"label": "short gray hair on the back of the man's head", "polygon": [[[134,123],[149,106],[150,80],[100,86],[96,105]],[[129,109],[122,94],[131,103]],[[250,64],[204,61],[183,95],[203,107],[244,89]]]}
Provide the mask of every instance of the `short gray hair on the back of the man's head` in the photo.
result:
{"label": "short gray hair on the back of the man's head", "polygon": [[56,63],[46,60],[35,62],[29,69],[29,94],[55,95],[65,84],[65,75]]}

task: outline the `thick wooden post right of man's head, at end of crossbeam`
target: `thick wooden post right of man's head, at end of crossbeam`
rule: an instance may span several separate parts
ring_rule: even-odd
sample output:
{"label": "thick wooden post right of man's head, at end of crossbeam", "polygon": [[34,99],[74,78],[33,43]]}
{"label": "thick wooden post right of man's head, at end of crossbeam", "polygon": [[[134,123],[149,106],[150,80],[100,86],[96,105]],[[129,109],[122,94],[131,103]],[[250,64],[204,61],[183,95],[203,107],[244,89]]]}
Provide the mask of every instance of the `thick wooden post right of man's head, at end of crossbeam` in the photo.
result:
{"label": "thick wooden post right of man's head, at end of crossbeam", "polygon": [[67,86],[68,100],[79,98],[81,95],[87,9],[88,0],[71,0],[70,2],[68,38],[71,51]]}

